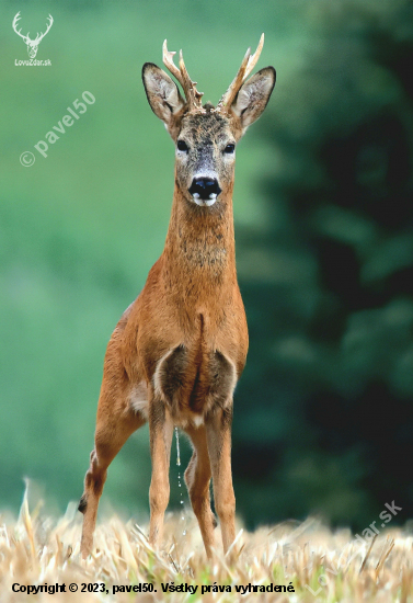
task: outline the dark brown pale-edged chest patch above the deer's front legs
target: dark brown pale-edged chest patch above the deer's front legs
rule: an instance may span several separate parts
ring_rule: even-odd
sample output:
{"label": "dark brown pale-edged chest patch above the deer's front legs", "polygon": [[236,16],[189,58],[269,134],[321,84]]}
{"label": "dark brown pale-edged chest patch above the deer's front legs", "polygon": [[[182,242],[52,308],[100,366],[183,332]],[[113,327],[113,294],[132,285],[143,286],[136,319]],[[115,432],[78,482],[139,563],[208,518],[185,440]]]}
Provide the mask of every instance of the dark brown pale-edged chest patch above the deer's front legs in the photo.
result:
{"label": "dark brown pale-edged chest patch above the deer's front legs", "polygon": [[237,371],[219,351],[191,354],[177,345],[158,362],[153,383],[176,424],[198,426],[216,406],[231,403]]}

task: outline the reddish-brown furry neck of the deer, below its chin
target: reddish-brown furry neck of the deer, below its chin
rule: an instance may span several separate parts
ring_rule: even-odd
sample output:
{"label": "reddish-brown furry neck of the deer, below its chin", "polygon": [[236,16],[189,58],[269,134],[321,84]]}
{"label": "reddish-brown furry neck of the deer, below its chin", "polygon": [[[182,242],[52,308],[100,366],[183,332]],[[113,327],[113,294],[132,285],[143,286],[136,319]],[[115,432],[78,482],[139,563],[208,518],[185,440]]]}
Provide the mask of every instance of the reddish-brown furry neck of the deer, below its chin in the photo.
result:
{"label": "reddish-brown furry neck of the deer, below its chin", "polygon": [[175,183],[162,272],[165,288],[190,304],[228,296],[237,283],[232,186],[216,205],[198,207]]}

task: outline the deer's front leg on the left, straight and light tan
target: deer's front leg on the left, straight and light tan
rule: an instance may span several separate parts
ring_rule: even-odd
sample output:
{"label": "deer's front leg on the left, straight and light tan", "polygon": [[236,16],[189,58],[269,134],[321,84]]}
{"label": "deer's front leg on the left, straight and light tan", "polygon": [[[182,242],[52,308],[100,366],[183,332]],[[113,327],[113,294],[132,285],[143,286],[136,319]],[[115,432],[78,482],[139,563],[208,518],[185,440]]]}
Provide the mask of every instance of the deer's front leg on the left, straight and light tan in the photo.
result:
{"label": "deer's front leg on the left, straight and light tan", "polygon": [[173,422],[164,402],[157,396],[149,405],[149,441],[152,477],[149,488],[149,543],[157,547],[162,541],[163,517],[169,502],[169,465]]}

